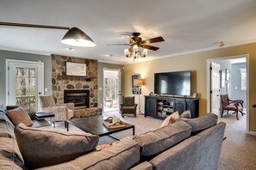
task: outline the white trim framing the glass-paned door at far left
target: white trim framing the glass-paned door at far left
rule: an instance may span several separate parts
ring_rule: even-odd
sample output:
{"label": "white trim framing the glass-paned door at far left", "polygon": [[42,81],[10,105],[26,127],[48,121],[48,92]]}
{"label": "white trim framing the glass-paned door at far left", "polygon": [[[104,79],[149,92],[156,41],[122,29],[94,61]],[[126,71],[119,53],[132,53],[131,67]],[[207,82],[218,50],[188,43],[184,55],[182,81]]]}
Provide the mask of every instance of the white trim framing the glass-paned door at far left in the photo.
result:
{"label": "white trim framing the glass-paned door at far left", "polygon": [[[35,61],[26,61],[26,60],[17,60],[17,59],[6,59],[5,60],[5,102],[6,106],[9,105],[9,63],[16,62],[21,64],[40,64],[41,65],[41,95],[44,95],[44,63],[35,62]],[[37,106],[39,108],[39,106]]]}

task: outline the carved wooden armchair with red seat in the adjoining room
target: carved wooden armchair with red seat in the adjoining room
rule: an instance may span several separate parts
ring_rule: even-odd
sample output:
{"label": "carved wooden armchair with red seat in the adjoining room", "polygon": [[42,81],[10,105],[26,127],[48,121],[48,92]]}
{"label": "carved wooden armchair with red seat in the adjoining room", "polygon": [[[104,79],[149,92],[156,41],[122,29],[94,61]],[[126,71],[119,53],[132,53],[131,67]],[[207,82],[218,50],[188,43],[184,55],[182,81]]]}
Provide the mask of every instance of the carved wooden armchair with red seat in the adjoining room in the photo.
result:
{"label": "carved wooden armchair with red seat in the adjoining room", "polygon": [[244,103],[243,100],[230,100],[228,98],[228,94],[221,95],[221,100],[222,100],[221,117],[223,116],[224,110],[234,111],[236,113],[236,119],[238,120],[239,120],[238,112],[240,112],[242,116],[245,114],[243,113],[243,103]]}

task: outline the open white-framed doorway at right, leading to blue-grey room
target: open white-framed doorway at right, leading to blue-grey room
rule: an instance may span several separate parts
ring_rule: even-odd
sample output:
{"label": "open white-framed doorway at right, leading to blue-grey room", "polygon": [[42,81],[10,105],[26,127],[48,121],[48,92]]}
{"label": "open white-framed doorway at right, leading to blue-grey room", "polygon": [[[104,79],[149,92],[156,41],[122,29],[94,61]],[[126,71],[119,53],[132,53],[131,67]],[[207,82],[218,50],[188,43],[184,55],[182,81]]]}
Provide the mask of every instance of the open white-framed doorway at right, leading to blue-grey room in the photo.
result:
{"label": "open white-framed doorway at right, leading to blue-grey room", "polygon": [[[249,131],[249,112],[248,103],[249,103],[249,75],[248,75],[248,55],[239,55],[232,56],[227,58],[213,58],[207,60],[207,111],[208,112],[217,112],[217,115],[220,117],[221,111],[221,99],[220,101],[214,102],[211,99],[211,88],[212,86],[220,88],[220,94],[228,94],[230,100],[243,100],[243,112],[247,113],[246,116],[242,116],[239,113],[240,120],[236,120],[235,114],[233,112],[224,111],[223,121],[231,121],[236,124],[236,121],[243,122],[246,131]],[[210,65],[212,63],[220,65],[219,71],[219,81],[214,84],[215,80],[211,74]],[[214,84],[214,85],[213,85]],[[215,110],[215,107],[220,108],[219,111]]]}

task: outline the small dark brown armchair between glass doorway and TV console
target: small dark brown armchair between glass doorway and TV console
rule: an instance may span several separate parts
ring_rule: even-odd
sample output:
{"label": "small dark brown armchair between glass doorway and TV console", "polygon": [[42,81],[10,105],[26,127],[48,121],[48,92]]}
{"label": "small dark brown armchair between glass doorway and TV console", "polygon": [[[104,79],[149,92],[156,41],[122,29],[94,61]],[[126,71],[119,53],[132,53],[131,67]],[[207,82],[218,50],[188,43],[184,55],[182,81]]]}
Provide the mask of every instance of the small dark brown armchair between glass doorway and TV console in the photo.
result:
{"label": "small dark brown armchair between glass doorway and TV console", "polygon": [[124,114],[134,114],[136,117],[137,104],[135,104],[135,99],[133,97],[122,96],[122,104],[120,105],[120,112],[122,117]]}

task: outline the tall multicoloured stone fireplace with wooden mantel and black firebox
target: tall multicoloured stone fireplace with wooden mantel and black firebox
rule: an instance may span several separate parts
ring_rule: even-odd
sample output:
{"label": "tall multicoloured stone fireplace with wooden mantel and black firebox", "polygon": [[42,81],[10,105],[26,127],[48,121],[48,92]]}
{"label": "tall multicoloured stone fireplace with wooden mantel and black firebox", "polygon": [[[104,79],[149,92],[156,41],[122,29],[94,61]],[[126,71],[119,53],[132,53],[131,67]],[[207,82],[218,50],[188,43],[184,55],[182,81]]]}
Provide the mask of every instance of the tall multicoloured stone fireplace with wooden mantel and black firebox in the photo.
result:
{"label": "tall multicoloured stone fireplace with wooden mantel and black firebox", "polygon": [[[66,62],[86,64],[86,76],[66,76]],[[97,60],[53,54],[52,90],[56,103],[75,103],[74,118],[83,118],[102,113],[102,109],[97,108]],[[84,90],[86,91],[85,96]],[[75,94],[73,92],[78,93]],[[82,95],[78,97],[79,94]],[[65,99],[66,95],[68,95],[67,99]],[[86,104],[81,106],[84,102]]]}

